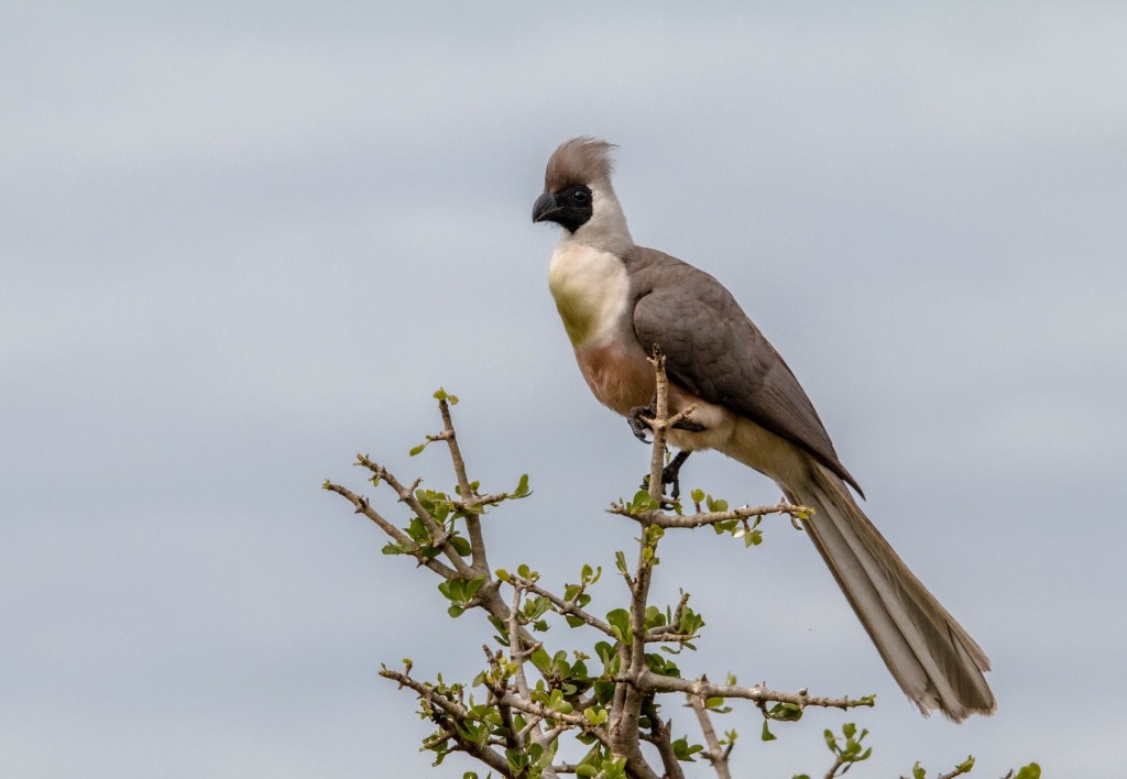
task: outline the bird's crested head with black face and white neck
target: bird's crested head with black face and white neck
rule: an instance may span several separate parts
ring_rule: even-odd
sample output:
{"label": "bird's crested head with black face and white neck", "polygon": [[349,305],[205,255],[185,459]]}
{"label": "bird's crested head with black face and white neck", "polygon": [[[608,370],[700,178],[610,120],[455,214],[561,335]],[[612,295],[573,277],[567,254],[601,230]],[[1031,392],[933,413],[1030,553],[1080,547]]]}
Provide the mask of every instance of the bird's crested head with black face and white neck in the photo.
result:
{"label": "bird's crested head with black face and white neck", "polygon": [[548,160],[544,193],[532,206],[532,221],[556,222],[571,239],[609,251],[621,253],[632,246],[611,186],[612,149],[614,144],[594,138],[574,138],[560,144]]}

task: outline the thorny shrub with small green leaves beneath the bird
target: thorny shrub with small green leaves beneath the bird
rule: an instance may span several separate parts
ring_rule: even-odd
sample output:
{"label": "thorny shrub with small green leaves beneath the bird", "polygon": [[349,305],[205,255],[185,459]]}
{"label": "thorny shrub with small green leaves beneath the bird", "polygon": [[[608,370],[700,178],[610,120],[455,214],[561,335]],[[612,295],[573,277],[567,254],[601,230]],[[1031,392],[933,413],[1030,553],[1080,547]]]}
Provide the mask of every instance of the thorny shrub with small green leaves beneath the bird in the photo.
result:
{"label": "thorny shrub with small green leaves beneath the bird", "polygon": [[[672,645],[675,652],[693,648],[690,641],[703,625],[689,609],[687,594],[682,594],[672,613],[662,614],[649,603],[658,564],[657,548],[666,531],[731,522],[744,522],[747,526],[747,520],[770,514],[786,515],[797,522],[810,514],[804,506],[789,504],[731,511],[726,507],[701,511],[698,505],[690,515],[653,507],[669,505],[663,503],[662,494],[666,433],[673,424],[690,417],[692,409],[668,416],[665,358],[655,351],[650,362],[657,381],[655,417],[650,423],[654,431],[648,483],[650,506],[642,511],[622,504],[611,507],[612,513],[637,522],[640,534],[632,566],[625,566],[619,555],[619,573],[629,588],[629,608],[612,611],[605,619],[585,608],[591,601],[587,587],[598,578],[587,566],[582,582],[567,585],[562,596],[539,584],[539,574],[525,566],[515,574],[489,568],[481,516],[488,508],[524,497],[526,480],[522,479],[521,487],[513,493],[478,493],[477,484],[467,475],[451,416],[450,407],[456,398],[442,390],[435,397],[443,428],[428,435],[427,442],[446,444],[456,478],[456,496],[420,489],[419,480],[405,485],[367,455],[357,455],[357,464],[370,473],[372,485],[387,485],[396,501],[407,507],[408,526],[399,528],[376,511],[369,498],[325,483],[326,489],[347,499],[356,513],[388,535],[391,543],[385,552],[412,557],[443,579],[440,590],[451,600],[453,616],[481,609],[498,631],[499,648],[483,647],[487,667],[473,685],[485,690],[483,703],[476,703],[472,694],[467,699],[467,688],[461,684],[444,684],[441,678],[437,683],[416,680],[410,675],[409,663],[403,671],[380,672],[411,690],[421,714],[436,725],[437,731],[424,741],[424,749],[436,755],[436,762],[459,751],[503,777],[579,773],[605,779],[677,779],[684,776],[681,763],[699,752],[719,779],[727,779],[735,736],[733,733],[727,741],[717,736],[711,715],[728,710],[717,707],[717,699],[751,701],[765,722],[798,719],[809,707],[852,709],[873,705],[871,697],[826,698],[810,696],[806,690],[781,692],[763,685],[715,684],[707,676],[685,679],[667,656],[647,654],[647,648],[655,644],[663,648]],[[421,451],[425,445],[416,449]],[[464,538],[460,528],[464,528]],[[512,592],[507,602],[500,594],[503,586]],[[598,640],[597,658],[579,652],[573,652],[570,657],[564,652],[550,654],[534,636],[547,629],[545,613],[566,618],[573,628],[593,629]],[[587,671],[587,662],[602,663],[602,672]],[[691,747],[683,738],[674,741],[671,723],[660,714],[662,701],[669,694],[687,700],[704,745]],[[775,709],[769,709],[770,705]],[[779,707],[787,707],[786,716],[777,712]],[[587,745],[586,756],[578,762],[556,760],[560,738],[568,733]],[[647,755],[644,743],[653,745],[656,755]],[[655,759],[657,762],[651,765]]]}

